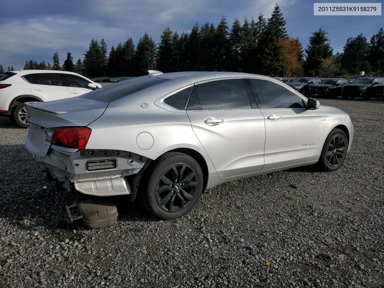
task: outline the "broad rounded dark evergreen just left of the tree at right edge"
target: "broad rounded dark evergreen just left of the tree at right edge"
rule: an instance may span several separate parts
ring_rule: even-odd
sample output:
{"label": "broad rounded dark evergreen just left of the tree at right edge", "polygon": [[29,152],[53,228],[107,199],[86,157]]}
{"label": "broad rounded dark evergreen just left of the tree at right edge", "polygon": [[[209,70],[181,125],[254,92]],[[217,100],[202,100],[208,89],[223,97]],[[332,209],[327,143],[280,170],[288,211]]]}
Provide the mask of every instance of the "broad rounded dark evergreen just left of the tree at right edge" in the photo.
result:
{"label": "broad rounded dark evergreen just left of the tree at right edge", "polygon": [[362,36],[362,34],[356,38],[349,37],[343,49],[341,68],[347,70],[349,73],[359,73],[360,71],[369,72],[371,67],[369,65],[368,49],[369,44],[367,38]]}

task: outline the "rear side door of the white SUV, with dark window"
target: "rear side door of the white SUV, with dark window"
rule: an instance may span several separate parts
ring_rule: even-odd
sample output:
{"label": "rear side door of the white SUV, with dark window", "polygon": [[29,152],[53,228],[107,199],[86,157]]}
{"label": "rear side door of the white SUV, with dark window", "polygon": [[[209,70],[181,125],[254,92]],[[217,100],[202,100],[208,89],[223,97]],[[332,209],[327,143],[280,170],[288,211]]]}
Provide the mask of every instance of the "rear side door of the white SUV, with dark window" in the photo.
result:
{"label": "rear side door of the white SUV, with dark window", "polygon": [[60,73],[35,73],[25,76],[25,78],[32,83],[33,96],[40,98],[44,102],[70,97],[68,88],[63,85]]}

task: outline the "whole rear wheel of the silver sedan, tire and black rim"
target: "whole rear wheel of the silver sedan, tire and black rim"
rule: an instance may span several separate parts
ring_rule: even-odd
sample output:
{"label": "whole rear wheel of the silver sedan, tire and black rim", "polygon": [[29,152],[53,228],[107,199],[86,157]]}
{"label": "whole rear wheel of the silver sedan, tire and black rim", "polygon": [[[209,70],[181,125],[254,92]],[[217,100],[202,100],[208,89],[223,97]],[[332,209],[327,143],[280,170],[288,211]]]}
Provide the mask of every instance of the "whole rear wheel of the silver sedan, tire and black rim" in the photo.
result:
{"label": "whole rear wheel of the silver sedan, tire and black rim", "polygon": [[163,220],[184,216],[199,201],[204,175],[192,157],[178,152],[166,153],[146,172],[142,185],[145,209]]}

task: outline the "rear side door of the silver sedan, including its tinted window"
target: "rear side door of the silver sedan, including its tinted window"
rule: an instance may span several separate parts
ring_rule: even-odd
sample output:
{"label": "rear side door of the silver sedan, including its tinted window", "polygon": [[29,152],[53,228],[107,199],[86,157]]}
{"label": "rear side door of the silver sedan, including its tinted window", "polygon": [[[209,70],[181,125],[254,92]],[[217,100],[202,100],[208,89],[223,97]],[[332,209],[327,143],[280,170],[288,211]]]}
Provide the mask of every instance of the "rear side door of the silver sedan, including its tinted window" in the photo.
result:
{"label": "rear side door of the silver sedan, including its tinted window", "polygon": [[260,171],[264,166],[264,116],[244,78],[195,84],[187,115],[221,177]]}

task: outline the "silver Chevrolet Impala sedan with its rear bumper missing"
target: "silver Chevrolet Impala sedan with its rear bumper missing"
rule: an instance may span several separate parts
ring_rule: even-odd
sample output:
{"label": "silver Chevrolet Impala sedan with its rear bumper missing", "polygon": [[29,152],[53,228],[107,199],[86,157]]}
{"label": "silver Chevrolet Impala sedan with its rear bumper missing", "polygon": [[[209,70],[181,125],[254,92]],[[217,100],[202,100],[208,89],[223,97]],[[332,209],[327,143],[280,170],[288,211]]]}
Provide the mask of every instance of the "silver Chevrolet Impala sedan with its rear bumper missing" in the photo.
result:
{"label": "silver Chevrolet Impala sedan with its rear bumper missing", "polygon": [[225,182],[312,164],[337,170],[353,139],[342,110],[246,73],[150,70],[27,109],[25,145],[50,179],[137,198],[162,219],[187,214]]}

